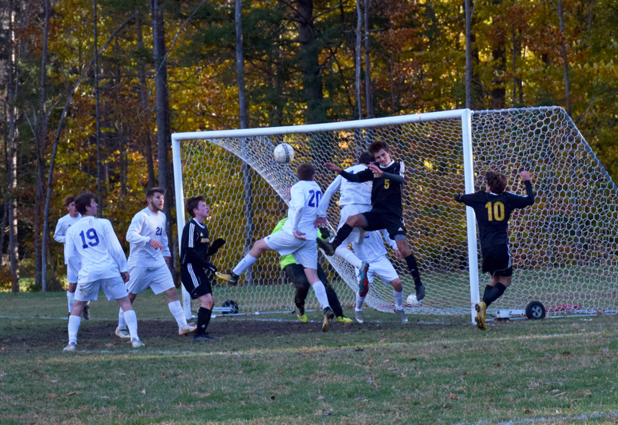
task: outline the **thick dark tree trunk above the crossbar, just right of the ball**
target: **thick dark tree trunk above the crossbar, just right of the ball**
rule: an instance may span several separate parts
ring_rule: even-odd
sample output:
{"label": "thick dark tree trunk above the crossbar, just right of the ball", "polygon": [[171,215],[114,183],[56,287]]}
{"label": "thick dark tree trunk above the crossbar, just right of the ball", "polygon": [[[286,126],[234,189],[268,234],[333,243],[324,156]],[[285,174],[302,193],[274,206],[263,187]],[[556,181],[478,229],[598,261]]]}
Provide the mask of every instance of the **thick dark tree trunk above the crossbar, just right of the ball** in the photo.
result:
{"label": "thick dark tree trunk above the crossbar, just right of the ball", "polygon": [[307,104],[308,124],[326,122],[322,79],[319,67],[317,30],[313,25],[313,1],[298,0],[298,41],[303,68],[303,88]]}

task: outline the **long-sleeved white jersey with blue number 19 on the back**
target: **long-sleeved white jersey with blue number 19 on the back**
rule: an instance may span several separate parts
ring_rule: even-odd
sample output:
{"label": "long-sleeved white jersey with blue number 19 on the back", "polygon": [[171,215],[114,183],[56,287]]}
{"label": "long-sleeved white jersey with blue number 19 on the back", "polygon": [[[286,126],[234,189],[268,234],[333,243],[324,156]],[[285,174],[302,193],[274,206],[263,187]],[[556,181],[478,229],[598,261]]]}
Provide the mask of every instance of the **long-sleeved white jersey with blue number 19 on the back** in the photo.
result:
{"label": "long-sleeved white jersey with blue number 19 on the back", "polygon": [[80,263],[78,283],[109,279],[128,271],[122,246],[111,222],[104,218],[85,216],[69,227],[65,258],[69,267]]}

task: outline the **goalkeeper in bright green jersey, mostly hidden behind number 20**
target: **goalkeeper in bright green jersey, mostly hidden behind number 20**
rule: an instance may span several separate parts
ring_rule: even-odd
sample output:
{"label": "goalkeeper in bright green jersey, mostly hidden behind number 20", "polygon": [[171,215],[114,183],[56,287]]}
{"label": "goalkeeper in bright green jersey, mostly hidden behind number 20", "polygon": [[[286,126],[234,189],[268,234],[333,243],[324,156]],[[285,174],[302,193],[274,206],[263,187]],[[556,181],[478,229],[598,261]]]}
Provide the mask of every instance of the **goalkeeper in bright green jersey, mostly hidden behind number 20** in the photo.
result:
{"label": "goalkeeper in bright green jersey, mostly hidden behind number 20", "polygon": [[[283,225],[288,220],[288,218],[284,218],[277,223],[273,233],[277,233],[281,231]],[[271,233],[271,234],[273,234]],[[328,238],[328,235],[323,234],[324,230],[320,229],[321,238]],[[305,314],[305,299],[309,293],[310,284],[305,275],[305,269],[302,264],[296,264],[294,260],[293,254],[283,255],[281,257],[281,262],[279,263],[282,271],[286,273],[288,279],[290,279],[296,288],[296,295],[294,297],[294,303],[298,308],[298,319],[303,323],[307,323],[307,314]],[[317,266],[317,274],[320,278],[321,282],[324,284],[324,288],[326,288],[326,297],[328,297],[328,303],[330,304],[330,308],[334,312],[337,317],[337,321],[339,323],[351,323],[352,319],[348,319],[343,316],[343,310],[341,309],[341,303],[339,303],[339,299],[337,298],[337,294],[328,283],[328,278],[326,277],[326,273],[324,273],[323,268],[318,263]]]}

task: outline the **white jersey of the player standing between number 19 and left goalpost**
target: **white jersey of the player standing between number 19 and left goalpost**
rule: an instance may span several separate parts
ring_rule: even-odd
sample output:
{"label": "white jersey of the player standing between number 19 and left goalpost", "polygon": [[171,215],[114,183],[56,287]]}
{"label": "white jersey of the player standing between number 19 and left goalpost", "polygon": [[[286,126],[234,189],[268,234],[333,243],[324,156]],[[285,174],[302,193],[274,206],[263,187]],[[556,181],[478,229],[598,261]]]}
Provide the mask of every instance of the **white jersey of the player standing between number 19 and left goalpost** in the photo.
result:
{"label": "white jersey of the player standing between number 19 and left goalpost", "polygon": [[[163,249],[152,248],[149,245],[152,239],[161,242]],[[161,211],[155,214],[146,207],[135,214],[126,231],[126,241],[131,246],[129,267],[164,266],[163,257],[172,256],[168,246],[168,235],[165,233],[165,214]]]}

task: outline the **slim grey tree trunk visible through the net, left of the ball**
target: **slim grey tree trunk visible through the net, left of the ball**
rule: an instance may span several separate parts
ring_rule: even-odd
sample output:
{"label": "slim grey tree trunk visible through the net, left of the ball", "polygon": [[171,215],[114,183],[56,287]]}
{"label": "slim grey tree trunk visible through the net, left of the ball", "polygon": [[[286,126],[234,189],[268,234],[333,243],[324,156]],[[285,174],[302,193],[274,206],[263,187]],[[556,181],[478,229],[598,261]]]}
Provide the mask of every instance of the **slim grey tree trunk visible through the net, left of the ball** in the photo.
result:
{"label": "slim grey tree trunk visible through the net, left of the ball", "polygon": [[[240,128],[249,127],[247,117],[247,95],[244,91],[244,53],[242,49],[242,0],[236,0],[234,14],[236,21],[236,80],[238,82],[238,108]],[[247,141],[244,141],[247,143]],[[244,253],[249,253],[253,244],[253,191],[251,188],[251,167],[242,162],[242,181],[244,185]],[[248,268],[244,273],[247,285],[253,285],[253,270]]]}

